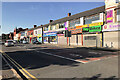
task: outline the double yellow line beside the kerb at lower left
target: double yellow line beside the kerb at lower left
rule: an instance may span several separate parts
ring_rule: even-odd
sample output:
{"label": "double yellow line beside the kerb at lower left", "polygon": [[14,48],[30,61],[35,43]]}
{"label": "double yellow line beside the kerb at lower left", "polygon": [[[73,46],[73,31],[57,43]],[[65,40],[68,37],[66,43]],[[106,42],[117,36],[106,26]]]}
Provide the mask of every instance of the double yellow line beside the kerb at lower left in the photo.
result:
{"label": "double yellow line beside the kerb at lower left", "polygon": [[[30,74],[27,70],[25,70],[21,65],[19,65],[15,60],[13,60],[10,56],[0,50],[0,52],[6,56],[6,58],[28,79],[28,80],[38,80],[35,76]],[[20,69],[21,68],[21,69]]]}

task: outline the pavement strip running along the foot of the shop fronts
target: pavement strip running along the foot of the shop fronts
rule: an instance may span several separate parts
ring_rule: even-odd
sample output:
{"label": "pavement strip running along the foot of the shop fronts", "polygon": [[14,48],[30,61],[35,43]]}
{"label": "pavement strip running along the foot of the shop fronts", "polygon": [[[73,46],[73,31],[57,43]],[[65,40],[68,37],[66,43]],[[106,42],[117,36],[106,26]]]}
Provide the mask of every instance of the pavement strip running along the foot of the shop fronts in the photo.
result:
{"label": "pavement strip running along the foot of the shop fronts", "polygon": [[84,47],[80,45],[59,45],[59,44],[51,44],[51,43],[46,43],[45,45],[54,45],[56,47],[61,47],[61,48],[85,48],[85,49],[91,49],[91,50],[100,50],[100,51],[120,51],[120,49],[113,49],[113,48],[105,48],[105,47]]}

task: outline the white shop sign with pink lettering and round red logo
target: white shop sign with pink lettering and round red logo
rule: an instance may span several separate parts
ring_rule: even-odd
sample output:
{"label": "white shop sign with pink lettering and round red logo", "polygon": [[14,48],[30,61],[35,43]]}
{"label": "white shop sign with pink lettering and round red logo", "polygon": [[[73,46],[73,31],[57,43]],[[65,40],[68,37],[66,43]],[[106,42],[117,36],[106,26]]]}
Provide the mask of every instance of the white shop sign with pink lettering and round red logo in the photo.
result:
{"label": "white shop sign with pink lettering and round red logo", "polygon": [[120,24],[104,25],[102,31],[117,31],[117,30],[120,30]]}

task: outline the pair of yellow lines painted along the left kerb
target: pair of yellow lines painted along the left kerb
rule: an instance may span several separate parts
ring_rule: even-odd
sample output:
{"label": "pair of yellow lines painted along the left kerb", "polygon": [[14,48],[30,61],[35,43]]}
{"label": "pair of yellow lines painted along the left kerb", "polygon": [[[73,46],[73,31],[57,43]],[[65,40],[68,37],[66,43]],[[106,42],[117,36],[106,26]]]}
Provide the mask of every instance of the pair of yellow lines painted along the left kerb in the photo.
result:
{"label": "pair of yellow lines painted along the left kerb", "polygon": [[[3,53],[3,51],[1,51],[1,50],[0,50],[0,52]],[[4,52],[4,55],[6,55],[7,57],[9,57],[5,52]],[[19,65],[15,60],[13,60],[11,57],[9,57],[9,58],[10,58],[13,62],[15,62],[15,63],[16,63],[24,72],[26,72],[31,78],[33,78],[33,79],[35,79],[35,80],[38,80],[36,77],[34,77],[33,75],[31,75],[27,70],[25,70],[21,65]],[[9,58],[8,58],[8,59],[9,59]],[[10,59],[9,59],[9,60],[10,60]],[[11,61],[11,60],[10,60],[10,61]],[[12,62],[12,61],[11,61],[11,62]],[[13,63],[13,62],[12,62],[12,63]],[[13,64],[14,64],[14,63],[13,63]],[[20,70],[21,73],[24,74],[24,76],[25,76],[26,78],[28,78],[29,80],[31,80],[16,64],[14,64],[14,65],[17,67],[17,69]]]}

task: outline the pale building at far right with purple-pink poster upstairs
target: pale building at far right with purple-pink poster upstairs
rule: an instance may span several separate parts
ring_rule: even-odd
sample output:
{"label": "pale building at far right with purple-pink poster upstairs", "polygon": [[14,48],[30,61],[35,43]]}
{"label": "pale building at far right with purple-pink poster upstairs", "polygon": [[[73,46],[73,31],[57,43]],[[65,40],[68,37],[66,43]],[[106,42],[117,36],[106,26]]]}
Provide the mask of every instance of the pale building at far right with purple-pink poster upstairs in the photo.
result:
{"label": "pale building at far right with purple-pink poster upstairs", "polygon": [[106,24],[103,26],[103,47],[120,48],[120,1],[105,0]]}

